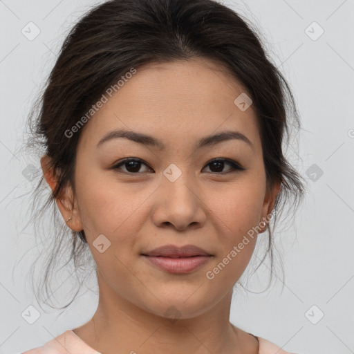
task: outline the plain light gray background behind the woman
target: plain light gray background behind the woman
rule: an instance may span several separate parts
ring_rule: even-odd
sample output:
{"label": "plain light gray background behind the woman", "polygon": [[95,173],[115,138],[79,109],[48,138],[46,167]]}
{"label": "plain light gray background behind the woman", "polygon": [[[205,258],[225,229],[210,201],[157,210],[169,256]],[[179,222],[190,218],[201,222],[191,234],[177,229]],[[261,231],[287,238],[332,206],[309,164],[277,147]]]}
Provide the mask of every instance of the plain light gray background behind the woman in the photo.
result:
{"label": "plain light gray background behind the woman", "polygon": [[[64,313],[46,314],[26,286],[36,247],[30,228],[23,230],[28,199],[22,195],[36,180],[23,171],[30,164],[36,169],[40,165],[38,157],[19,149],[26,115],[64,36],[77,17],[98,2],[0,0],[0,353],[42,345],[87,322],[97,306],[95,291],[86,290]],[[292,86],[303,129],[299,148],[290,147],[287,156],[308,181],[306,200],[293,225],[276,237],[285,285],[278,280],[260,292],[269,275],[263,266],[247,284],[260,293],[237,290],[230,320],[286,351],[354,353],[354,1],[224,3],[258,26],[270,56]],[[30,21],[40,30],[33,40],[21,32]],[[324,30],[321,37],[314,21]],[[58,299],[71,281],[59,283]],[[95,282],[88,288],[95,288]],[[28,306],[39,310],[34,324],[21,316]],[[324,317],[317,322],[321,313]]]}

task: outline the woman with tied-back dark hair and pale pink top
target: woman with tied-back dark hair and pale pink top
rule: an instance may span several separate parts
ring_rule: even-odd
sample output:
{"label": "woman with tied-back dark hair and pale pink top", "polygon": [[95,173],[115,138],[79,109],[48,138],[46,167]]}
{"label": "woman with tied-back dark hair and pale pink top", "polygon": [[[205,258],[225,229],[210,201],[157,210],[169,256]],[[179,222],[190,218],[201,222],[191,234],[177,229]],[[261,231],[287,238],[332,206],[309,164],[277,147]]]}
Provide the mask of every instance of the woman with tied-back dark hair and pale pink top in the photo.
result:
{"label": "woman with tied-back dark hair and pale pink top", "polygon": [[272,256],[270,222],[304,193],[281,149],[287,99],[298,123],[257,36],[216,1],[88,12],[32,123],[73,257],[81,245],[95,261],[99,304],[25,354],[286,354],[229,317],[257,237],[268,232]]}

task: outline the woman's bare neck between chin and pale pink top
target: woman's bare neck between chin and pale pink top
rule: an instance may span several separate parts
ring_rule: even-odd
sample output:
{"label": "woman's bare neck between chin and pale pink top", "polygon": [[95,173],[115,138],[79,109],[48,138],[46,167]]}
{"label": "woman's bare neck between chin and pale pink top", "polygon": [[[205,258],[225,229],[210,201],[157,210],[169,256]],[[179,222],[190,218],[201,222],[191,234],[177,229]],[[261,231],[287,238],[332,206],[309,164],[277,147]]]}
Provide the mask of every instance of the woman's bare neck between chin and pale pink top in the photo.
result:
{"label": "woman's bare neck between chin and pale pink top", "polygon": [[100,353],[258,353],[257,339],[230,324],[232,291],[192,318],[172,309],[176,318],[165,318],[127,301],[100,278],[99,288],[95,315],[74,333]]}

